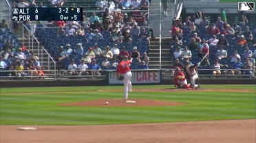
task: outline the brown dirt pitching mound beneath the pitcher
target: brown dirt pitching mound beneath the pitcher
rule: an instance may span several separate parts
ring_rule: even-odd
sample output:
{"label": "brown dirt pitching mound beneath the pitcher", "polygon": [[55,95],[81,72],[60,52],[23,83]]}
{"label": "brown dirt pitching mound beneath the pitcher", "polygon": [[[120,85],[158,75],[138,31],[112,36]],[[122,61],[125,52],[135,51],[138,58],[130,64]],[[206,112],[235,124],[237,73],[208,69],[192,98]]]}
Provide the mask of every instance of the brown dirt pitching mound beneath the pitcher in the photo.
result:
{"label": "brown dirt pitching mound beneath the pitcher", "polygon": [[[136,101],[127,103],[126,101]],[[108,102],[108,104],[105,104]],[[185,103],[173,103],[169,101],[156,101],[149,99],[97,99],[92,101],[81,101],[76,103],[65,103],[62,105],[85,106],[85,107],[126,107],[126,106],[173,106],[184,105]]]}

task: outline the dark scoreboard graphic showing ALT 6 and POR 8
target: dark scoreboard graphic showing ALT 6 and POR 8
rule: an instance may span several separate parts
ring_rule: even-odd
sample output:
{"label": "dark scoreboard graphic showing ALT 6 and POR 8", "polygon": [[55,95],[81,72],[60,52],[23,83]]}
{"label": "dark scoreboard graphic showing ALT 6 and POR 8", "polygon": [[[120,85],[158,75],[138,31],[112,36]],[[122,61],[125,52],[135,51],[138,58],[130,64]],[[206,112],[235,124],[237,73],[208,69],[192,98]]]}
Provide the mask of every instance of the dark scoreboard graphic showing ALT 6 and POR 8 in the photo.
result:
{"label": "dark scoreboard graphic showing ALT 6 and POR 8", "polygon": [[83,8],[12,8],[13,21],[82,21]]}

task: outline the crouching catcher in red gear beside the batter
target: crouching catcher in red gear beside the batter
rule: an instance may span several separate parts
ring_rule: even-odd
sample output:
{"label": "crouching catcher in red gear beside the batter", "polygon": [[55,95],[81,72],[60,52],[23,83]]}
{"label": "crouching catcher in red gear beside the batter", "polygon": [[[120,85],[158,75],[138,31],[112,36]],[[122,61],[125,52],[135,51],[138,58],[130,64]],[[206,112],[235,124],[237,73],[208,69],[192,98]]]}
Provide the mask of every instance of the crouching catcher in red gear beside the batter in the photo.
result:
{"label": "crouching catcher in red gear beside the batter", "polygon": [[173,78],[173,83],[175,87],[181,88],[182,86],[188,90],[190,90],[190,85],[186,82],[186,77],[184,73],[180,70],[180,68],[175,69],[175,75]]}

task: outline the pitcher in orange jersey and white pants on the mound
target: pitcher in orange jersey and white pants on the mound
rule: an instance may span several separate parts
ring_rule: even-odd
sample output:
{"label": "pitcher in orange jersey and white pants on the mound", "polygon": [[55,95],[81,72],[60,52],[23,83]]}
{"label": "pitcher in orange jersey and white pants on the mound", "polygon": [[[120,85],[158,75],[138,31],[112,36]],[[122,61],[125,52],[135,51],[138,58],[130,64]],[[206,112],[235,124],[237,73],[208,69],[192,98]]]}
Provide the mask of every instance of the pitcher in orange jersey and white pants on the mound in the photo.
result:
{"label": "pitcher in orange jersey and white pants on the mound", "polygon": [[121,75],[124,77],[124,79],[122,79],[122,83],[124,84],[125,99],[128,99],[128,91],[131,92],[132,75],[129,64],[131,64],[132,60],[132,57],[128,60],[127,55],[125,55],[124,60],[122,60],[122,57],[119,57],[119,64],[116,66],[116,79]]}

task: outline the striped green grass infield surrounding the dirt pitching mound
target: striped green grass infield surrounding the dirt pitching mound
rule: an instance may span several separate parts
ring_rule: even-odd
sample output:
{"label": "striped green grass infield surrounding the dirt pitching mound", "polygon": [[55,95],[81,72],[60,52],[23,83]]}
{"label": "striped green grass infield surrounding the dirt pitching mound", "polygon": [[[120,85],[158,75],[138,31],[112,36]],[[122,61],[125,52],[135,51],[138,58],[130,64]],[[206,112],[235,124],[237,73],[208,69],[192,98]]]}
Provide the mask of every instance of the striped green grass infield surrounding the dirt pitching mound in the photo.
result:
{"label": "striped green grass infield surrounding the dirt pitching mound", "polygon": [[[172,86],[133,86],[172,88]],[[248,89],[250,92],[203,91],[205,89]],[[171,92],[131,92],[131,99],[151,99],[186,103],[158,107],[71,107],[58,105],[93,99],[122,99],[122,92],[98,90],[105,87],[1,88],[1,125],[108,125],[143,122],[232,120],[256,118],[255,85],[203,86],[202,90]]]}

